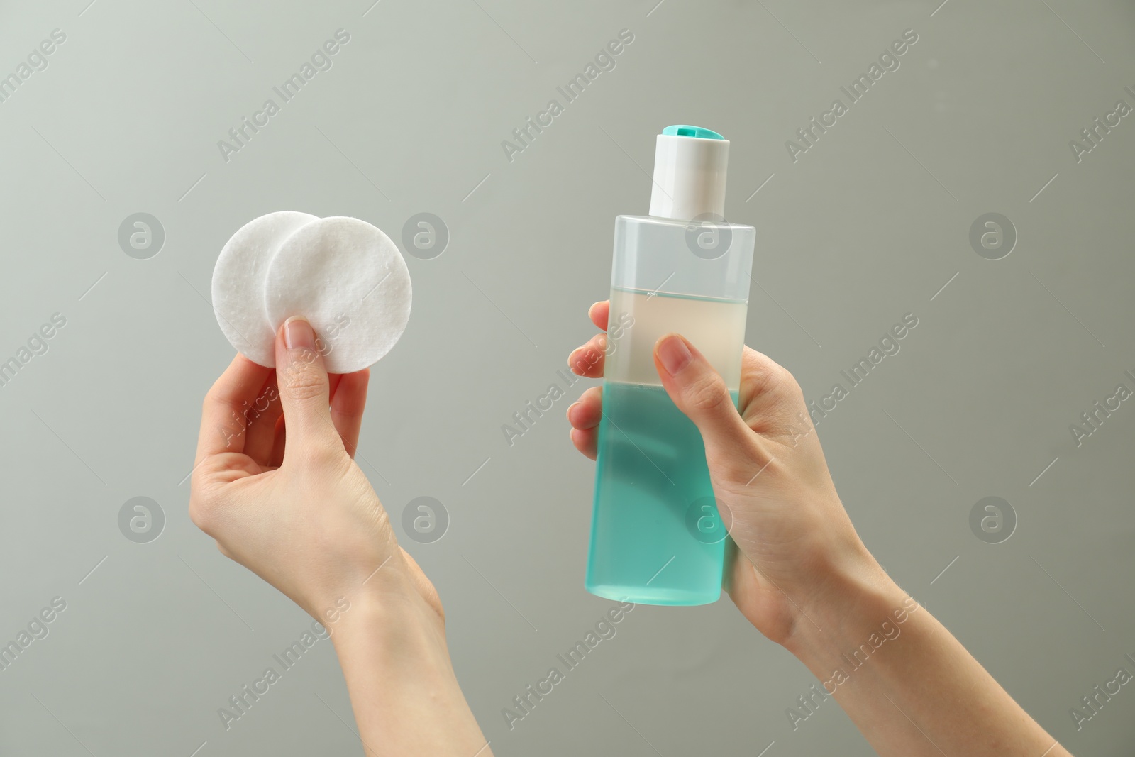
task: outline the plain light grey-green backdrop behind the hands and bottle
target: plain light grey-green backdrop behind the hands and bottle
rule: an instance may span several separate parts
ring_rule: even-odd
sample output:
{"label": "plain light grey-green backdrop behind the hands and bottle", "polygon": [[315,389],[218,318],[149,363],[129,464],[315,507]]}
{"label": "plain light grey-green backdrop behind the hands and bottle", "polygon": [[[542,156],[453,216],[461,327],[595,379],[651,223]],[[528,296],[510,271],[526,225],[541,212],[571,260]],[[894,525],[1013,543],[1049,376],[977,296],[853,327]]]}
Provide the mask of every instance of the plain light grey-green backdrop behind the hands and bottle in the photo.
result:
{"label": "plain light grey-green backdrop behind the hands and bottle", "polygon": [[[867,545],[1074,754],[1132,754],[1129,687],[1081,731],[1069,708],[1132,670],[1135,402],[1081,446],[1069,424],[1135,388],[1135,116],[1081,162],[1068,143],[1135,106],[1135,10],[655,1],[0,3],[5,75],[67,35],[0,103],[0,360],[67,319],[0,387],[0,640],[67,602],[0,672],[0,754],[361,752],[327,642],[225,730],[218,708],[310,621],[186,514],[200,401],[232,356],[213,263],[292,209],[396,239],[428,211],[452,234],[407,256],[413,314],[373,369],[360,451],[400,537],[412,498],[448,510],[444,538],[403,542],[497,755],[871,755],[831,700],[792,730],[815,681],[728,599],[637,608],[514,730],[502,717],[612,603],[582,589],[592,464],[563,419],[590,381],[512,447],[501,426],[594,333],[613,217],[646,212],[674,123],[732,140],[728,215],[758,229],[747,342],[809,399],[918,318],[818,428]],[[338,28],[334,67],[222,160]],[[622,28],[617,67],[510,162],[502,140]],[[908,28],[901,67],[793,162],[785,141]],[[135,212],[166,232],[149,260],[117,242]],[[1017,229],[1002,260],[970,247],[986,212]],[[118,529],[135,496],[166,514],[150,544]],[[986,496],[1019,519],[1003,544],[970,531]]]}

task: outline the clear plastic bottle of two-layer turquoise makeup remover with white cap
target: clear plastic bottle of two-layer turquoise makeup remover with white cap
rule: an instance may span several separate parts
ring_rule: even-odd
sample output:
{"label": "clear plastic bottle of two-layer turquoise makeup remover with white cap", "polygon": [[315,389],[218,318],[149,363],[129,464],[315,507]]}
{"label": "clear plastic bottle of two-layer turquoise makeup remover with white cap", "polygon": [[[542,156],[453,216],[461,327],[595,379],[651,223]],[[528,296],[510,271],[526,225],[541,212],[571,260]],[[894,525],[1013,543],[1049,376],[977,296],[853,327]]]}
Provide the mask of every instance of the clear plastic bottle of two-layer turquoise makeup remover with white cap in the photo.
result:
{"label": "clear plastic bottle of two-layer turquoise makeup remover with white cap", "polygon": [[662,387],[654,345],[684,336],[737,404],[756,229],[724,221],[728,158],[716,132],[666,127],[650,215],[615,219],[586,579],[608,599],[705,605],[721,596],[726,523],[701,435]]}

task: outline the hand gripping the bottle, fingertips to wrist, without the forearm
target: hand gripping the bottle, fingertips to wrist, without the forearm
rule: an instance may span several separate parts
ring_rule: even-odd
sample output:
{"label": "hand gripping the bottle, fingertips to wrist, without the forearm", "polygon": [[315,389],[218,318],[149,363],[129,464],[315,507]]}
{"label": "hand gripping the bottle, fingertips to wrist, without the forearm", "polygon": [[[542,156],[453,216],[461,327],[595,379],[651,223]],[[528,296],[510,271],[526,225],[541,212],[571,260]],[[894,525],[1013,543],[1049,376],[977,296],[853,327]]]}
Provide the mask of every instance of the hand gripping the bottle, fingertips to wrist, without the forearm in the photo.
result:
{"label": "hand gripping the bottle, fingertips to wrist, without the forearm", "polygon": [[[597,302],[588,314],[606,329],[608,312],[609,303]],[[572,370],[602,377],[605,346],[599,334],[573,351]],[[681,336],[659,339],[654,359],[666,393],[701,431],[714,497],[740,553],[726,589],[762,633],[787,644],[810,623],[809,608],[846,594],[848,582],[888,583],[835,494],[791,373],[745,347],[734,409],[724,380]],[[592,460],[602,414],[602,387],[568,409],[571,439]]]}

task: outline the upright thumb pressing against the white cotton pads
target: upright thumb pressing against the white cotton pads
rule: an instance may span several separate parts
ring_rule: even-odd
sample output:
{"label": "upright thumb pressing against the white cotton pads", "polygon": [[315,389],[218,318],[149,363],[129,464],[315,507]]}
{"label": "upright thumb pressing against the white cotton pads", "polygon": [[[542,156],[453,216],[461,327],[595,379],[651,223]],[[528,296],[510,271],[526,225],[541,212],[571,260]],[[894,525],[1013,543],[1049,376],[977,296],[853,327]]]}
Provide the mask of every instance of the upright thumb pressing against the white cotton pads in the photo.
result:
{"label": "upright thumb pressing against the white cotton pads", "polygon": [[299,316],[284,321],[276,335],[276,382],[287,424],[287,447],[296,443],[322,446],[338,437],[331,423],[327,367],[317,344],[321,346],[311,323]]}

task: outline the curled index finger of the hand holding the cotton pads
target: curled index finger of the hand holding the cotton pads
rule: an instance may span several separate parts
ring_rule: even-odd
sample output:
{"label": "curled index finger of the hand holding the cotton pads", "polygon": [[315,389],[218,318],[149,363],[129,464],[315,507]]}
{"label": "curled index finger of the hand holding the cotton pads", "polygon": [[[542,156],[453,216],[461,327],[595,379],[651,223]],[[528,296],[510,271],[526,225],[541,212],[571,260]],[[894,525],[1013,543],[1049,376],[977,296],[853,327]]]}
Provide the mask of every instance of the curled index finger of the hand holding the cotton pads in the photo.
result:
{"label": "curled index finger of the hand holding the cotton pads", "polygon": [[201,406],[194,468],[211,455],[244,451],[249,424],[245,409],[257,401],[271,372],[271,368],[258,365],[242,354],[233,359],[209,389]]}

